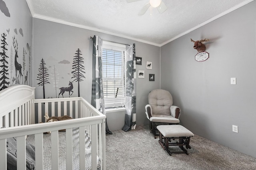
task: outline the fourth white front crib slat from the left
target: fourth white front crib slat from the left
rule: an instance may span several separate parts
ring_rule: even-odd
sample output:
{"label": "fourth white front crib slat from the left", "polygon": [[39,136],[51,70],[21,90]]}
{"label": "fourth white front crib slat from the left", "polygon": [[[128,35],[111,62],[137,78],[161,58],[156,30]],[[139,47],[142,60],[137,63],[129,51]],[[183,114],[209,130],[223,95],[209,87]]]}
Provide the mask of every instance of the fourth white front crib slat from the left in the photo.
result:
{"label": "fourth white front crib slat from the left", "polygon": [[59,137],[58,131],[51,133],[51,149],[52,149],[52,169],[59,169]]}

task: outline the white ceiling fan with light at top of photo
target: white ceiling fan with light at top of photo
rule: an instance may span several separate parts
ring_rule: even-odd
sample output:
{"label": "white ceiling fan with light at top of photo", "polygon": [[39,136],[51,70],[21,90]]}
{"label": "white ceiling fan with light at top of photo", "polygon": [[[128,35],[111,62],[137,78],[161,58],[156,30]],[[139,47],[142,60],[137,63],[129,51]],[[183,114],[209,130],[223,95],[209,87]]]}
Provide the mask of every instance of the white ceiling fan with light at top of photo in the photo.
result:
{"label": "white ceiling fan with light at top of photo", "polygon": [[[139,0],[127,0],[127,2],[136,2]],[[160,14],[162,14],[163,12],[165,12],[167,10],[166,5],[164,4],[164,2],[162,0],[149,0],[149,3],[145,4],[142,9],[140,10],[140,12],[138,13],[138,15],[143,15],[145,14],[145,12],[148,10],[149,7],[152,8],[157,8],[158,12]]]}

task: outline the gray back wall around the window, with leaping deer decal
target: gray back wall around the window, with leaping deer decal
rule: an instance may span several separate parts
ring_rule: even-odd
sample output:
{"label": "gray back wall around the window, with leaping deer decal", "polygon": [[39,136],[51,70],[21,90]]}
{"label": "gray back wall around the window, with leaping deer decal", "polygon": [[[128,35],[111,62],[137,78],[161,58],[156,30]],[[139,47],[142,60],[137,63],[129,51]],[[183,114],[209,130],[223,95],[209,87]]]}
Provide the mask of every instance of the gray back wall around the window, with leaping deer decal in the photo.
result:
{"label": "gray back wall around the window, with leaping deer decal", "polygon": [[[72,62],[76,50],[79,48],[84,58],[84,67],[86,77],[84,81],[80,82],[80,96],[84,97],[88,102],[91,102],[91,90],[92,90],[92,40],[90,36],[99,35],[102,39],[108,41],[114,41],[118,43],[132,44],[136,43],[136,56],[142,57],[142,65],[136,65],[137,76],[138,70],[145,70],[145,78],[137,77],[137,107],[136,118],[137,125],[142,125],[146,121],[145,105],[148,102],[148,93],[155,88],[160,88],[160,47],[148,45],[130,39],[120,38],[105,33],[99,33],[96,31],[90,31],[78,27],[55,23],[51,21],[41,20],[33,18],[33,41],[34,41],[34,76],[33,85],[36,87],[36,98],[43,97],[42,86],[38,86],[37,74],[40,61],[44,59],[48,72],[50,74],[53,66],[55,66],[59,72],[59,84],[60,87],[68,87],[69,81],[72,80]],[[61,61],[66,61],[60,63]],[[152,62],[152,70],[146,69],[146,61]],[[148,74],[155,74],[155,81],[149,82]],[[49,79],[51,84],[46,84],[45,98],[57,98],[60,90],[54,90],[53,83]],[[78,96],[78,84],[73,82],[74,93],[70,97]],[[63,94],[64,97],[68,97],[68,92]],[[62,97],[60,95],[60,97]],[[124,125],[124,111],[107,113],[108,126],[111,131],[122,129]]]}

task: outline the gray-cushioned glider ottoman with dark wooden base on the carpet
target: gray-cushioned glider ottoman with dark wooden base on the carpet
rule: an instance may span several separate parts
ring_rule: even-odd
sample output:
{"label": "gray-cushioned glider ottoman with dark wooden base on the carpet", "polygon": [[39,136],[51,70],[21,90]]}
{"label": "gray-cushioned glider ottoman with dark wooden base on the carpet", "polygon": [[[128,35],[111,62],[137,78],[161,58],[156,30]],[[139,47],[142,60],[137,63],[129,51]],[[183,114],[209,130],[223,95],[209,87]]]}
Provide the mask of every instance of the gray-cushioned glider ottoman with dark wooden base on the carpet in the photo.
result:
{"label": "gray-cushioned glider ottoman with dark wooden base on the carpet", "polygon": [[[191,149],[189,145],[190,137],[194,136],[191,131],[182,125],[159,125],[156,128],[159,131],[158,142],[162,148],[168,152],[169,155],[172,155],[172,153],[188,154],[186,149]],[[172,143],[172,140],[174,139],[178,139],[179,141]],[[169,150],[169,146],[178,146],[182,151],[171,152]],[[183,146],[186,146],[186,149]]]}

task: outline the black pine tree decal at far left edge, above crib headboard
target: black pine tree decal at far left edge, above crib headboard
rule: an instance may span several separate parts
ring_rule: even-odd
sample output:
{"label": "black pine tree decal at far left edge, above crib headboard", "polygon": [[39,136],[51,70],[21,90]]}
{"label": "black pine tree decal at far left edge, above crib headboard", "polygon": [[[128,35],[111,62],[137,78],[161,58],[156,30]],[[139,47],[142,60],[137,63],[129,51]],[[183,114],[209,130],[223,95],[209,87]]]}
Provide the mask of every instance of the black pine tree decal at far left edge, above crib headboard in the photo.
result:
{"label": "black pine tree decal at far left edge, above crib headboard", "polygon": [[[8,87],[8,85],[10,84],[10,82],[8,82],[7,80],[9,80],[8,78],[8,61],[7,61],[7,58],[9,58],[7,55],[6,55],[6,52],[7,49],[6,49],[6,46],[8,45],[7,42],[6,42],[6,33],[3,33],[1,34],[2,36],[2,43],[1,43],[1,48],[2,48],[2,51],[3,52],[0,52],[0,55],[1,55],[1,58],[0,58],[0,63],[2,63],[0,65],[0,90],[3,90],[5,88]],[[1,88],[2,86],[2,88]]]}

